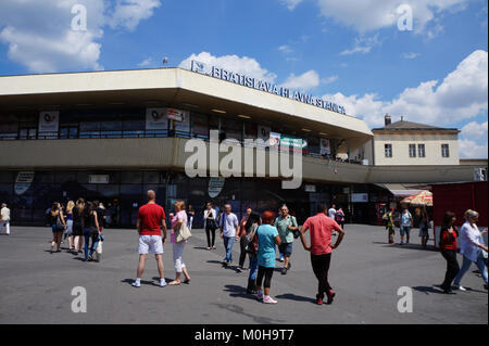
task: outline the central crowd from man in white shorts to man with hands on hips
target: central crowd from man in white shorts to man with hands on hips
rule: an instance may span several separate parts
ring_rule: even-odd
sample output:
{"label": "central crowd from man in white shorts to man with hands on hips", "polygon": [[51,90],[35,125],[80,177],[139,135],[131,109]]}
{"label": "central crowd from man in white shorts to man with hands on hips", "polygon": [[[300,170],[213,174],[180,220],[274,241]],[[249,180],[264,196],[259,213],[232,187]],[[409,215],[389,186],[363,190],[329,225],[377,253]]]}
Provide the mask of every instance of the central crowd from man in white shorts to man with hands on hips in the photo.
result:
{"label": "central crowd from man in white shorts to man with hands on hips", "polygon": [[[178,236],[183,232],[183,228],[189,228],[190,222],[185,202],[175,202],[175,212],[170,214],[175,280],[166,283],[163,266],[163,245],[167,239],[165,212],[162,206],[156,204],[154,191],[148,191],[147,200],[148,203],[139,208],[137,217],[139,262],[136,280],[131,284],[135,287],[140,287],[146,259],[149,254],[155,256],[161,287],[179,285],[181,282],[189,284],[190,275],[183,260],[187,240],[179,240],[180,238]],[[264,212],[260,216],[251,208],[248,208],[246,216],[241,221],[238,221],[229,204],[226,204],[224,210],[218,214],[213,208],[213,205],[208,203],[204,210],[204,228],[208,240],[206,249],[209,251],[216,248],[215,232],[218,229],[220,238],[223,240],[225,248],[225,257],[222,261],[224,267],[233,264],[233,245],[239,242],[241,253],[237,271],[242,272],[246,269],[244,261],[248,257],[249,277],[247,292],[256,295],[259,300],[266,304],[277,303],[269,294],[276,261],[276,246],[278,246],[279,253],[285,258],[281,273],[286,274],[291,268],[290,256],[292,254],[293,239],[300,236],[304,249],[311,253],[312,268],[318,280],[316,304],[322,305],[325,295],[327,297],[326,303],[333,303],[335,292],[328,282],[328,270],[333,249],[340,244],[344,231],[335,218],[328,216],[328,209],[324,205],[319,205],[317,215],[308,218],[299,230],[296,218],[289,214],[286,205],[279,208],[278,217],[269,210]],[[311,233],[311,244],[308,244],[305,240],[304,233],[308,231]],[[335,244],[331,244],[333,232],[338,232],[339,234]],[[181,281],[181,274],[185,277],[184,281]]]}

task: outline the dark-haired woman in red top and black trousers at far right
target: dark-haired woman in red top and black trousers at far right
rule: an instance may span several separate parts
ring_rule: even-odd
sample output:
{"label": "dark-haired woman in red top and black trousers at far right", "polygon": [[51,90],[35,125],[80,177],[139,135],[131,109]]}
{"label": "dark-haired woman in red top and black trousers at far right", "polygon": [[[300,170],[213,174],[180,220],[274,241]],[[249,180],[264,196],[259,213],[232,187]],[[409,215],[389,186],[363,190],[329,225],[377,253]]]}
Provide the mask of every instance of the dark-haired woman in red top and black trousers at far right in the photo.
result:
{"label": "dark-haired woman in red top and black trousers at far right", "polygon": [[452,212],[447,212],[443,216],[443,223],[440,232],[440,252],[447,260],[447,271],[443,283],[440,285],[447,294],[453,294],[452,281],[459,273],[460,267],[456,261],[456,238],[459,235],[455,227],[456,217]]}

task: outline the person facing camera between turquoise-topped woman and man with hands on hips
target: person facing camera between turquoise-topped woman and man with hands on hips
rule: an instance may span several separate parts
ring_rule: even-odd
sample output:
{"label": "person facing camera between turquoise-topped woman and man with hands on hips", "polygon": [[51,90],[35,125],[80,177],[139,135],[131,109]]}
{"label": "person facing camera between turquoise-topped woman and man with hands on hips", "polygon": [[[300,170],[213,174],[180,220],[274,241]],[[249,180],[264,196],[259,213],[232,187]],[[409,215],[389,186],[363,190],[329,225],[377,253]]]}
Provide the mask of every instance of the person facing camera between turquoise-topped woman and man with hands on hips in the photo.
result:
{"label": "person facing camera between turquoise-topped woman and man with hands on hips", "polygon": [[297,219],[289,214],[287,205],[284,204],[280,207],[280,215],[275,219],[274,226],[280,235],[278,252],[285,257],[284,268],[281,268],[281,274],[285,275],[292,267],[290,256],[292,255],[293,232],[299,229]]}

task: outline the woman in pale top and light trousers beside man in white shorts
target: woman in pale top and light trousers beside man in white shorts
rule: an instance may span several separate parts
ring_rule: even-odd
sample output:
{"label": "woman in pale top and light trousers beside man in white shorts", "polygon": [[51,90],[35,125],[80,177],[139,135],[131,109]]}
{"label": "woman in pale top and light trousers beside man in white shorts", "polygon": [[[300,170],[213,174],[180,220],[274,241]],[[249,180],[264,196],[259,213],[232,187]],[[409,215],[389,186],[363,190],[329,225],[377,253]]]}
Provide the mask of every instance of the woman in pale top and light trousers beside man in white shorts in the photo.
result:
{"label": "woman in pale top and light trousers beside man in white shorts", "polygon": [[177,234],[180,227],[187,226],[187,213],[185,212],[185,202],[175,202],[175,215],[172,218],[172,243],[173,243],[173,262],[175,265],[175,280],[168,285],[179,285],[181,273],[185,275],[184,283],[190,283],[190,275],[188,274],[187,266],[184,262],[184,249],[187,241],[177,243]]}

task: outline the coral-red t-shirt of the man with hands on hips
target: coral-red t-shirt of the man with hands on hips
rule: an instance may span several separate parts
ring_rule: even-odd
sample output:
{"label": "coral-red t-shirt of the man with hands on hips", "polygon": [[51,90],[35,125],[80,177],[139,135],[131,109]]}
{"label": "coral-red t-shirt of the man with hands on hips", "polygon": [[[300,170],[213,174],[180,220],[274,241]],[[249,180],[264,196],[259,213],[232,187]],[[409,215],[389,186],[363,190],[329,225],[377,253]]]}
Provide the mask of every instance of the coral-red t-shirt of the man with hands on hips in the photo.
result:
{"label": "coral-red t-shirt of the man with hands on hips", "polygon": [[308,218],[302,225],[302,229],[311,231],[311,254],[325,255],[333,252],[333,230],[340,230],[341,228],[334,219],[327,217],[324,213],[319,213]]}

